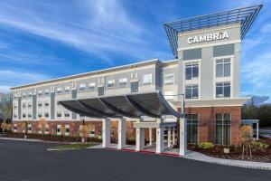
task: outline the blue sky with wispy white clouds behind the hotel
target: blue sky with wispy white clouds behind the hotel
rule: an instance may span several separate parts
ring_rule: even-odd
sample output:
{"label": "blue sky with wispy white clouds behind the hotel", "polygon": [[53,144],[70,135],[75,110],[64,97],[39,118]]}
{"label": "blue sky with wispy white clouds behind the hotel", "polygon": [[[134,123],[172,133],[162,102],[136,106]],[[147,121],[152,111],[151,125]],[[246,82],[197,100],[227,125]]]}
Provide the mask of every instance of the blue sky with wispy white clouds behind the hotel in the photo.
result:
{"label": "blue sky with wispy white clouds behind the hotel", "polygon": [[1,0],[0,92],[132,62],[172,60],[164,22],[257,4],[265,6],[242,43],[241,94],[271,96],[270,0]]}

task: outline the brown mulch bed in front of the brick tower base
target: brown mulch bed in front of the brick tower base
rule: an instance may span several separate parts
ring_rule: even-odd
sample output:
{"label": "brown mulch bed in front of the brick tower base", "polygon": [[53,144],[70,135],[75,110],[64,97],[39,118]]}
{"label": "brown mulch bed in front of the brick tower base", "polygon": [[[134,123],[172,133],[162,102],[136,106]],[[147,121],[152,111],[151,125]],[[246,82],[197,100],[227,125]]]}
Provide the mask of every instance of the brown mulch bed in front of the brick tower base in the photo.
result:
{"label": "brown mulch bed in front of the brick tower base", "polygon": [[245,160],[245,161],[257,161],[257,162],[267,162],[271,163],[271,138],[261,138],[259,140],[261,142],[265,142],[269,145],[269,148],[252,148],[252,157],[242,157],[242,148],[241,147],[230,147],[230,152],[224,153],[223,148],[221,146],[215,146],[211,149],[203,149],[198,148],[195,145],[190,145],[188,149],[196,152],[200,152],[204,155],[210,157],[218,157],[223,159],[238,159],[238,160]]}

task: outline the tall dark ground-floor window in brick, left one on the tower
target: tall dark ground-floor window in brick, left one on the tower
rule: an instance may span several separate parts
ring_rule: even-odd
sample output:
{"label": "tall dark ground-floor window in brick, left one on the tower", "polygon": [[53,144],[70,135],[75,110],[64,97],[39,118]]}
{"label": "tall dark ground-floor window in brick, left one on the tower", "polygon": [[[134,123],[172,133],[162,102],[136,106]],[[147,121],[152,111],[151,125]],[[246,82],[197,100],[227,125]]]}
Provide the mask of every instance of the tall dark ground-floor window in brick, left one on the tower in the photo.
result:
{"label": "tall dark ground-floor window in brick, left one on the tower", "polygon": [[185,118],[187,119],[187,143],[197,144],[199,128],[198,114],[185,114]]}

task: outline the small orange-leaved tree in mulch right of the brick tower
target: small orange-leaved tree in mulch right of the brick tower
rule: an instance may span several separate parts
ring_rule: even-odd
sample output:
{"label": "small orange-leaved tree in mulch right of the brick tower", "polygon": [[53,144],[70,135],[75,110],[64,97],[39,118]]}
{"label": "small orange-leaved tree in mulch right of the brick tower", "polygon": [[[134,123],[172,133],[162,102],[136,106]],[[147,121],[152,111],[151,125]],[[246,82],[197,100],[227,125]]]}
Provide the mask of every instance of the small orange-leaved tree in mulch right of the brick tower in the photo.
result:
{"label": "small orange-leaved tree in mulch right of the brick tower", "polygon": [[245,152],[248,157],[248,151],[249,151],[249,157],[252,157],[251,155],[251,144],[253,141],[253,129],[251,126],[243,126],[238,133],[238,141],[241,147],[243,148],[242,157],[244,157]]}

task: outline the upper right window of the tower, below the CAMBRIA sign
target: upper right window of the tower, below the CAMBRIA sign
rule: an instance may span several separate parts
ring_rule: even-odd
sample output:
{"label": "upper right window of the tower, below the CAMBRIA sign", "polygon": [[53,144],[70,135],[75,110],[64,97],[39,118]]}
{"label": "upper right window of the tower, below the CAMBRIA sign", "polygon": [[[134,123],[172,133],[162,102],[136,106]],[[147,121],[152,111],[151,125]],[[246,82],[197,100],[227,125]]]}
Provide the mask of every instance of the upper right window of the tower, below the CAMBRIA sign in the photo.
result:
{"label": "upper right window of the tower, below the CAMBRIA sign", "polygon": [[216,76],[229,77],[230,76],[230,59],[219,59],[216,61]]}

